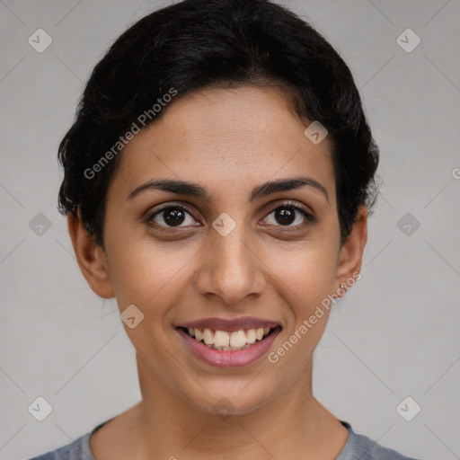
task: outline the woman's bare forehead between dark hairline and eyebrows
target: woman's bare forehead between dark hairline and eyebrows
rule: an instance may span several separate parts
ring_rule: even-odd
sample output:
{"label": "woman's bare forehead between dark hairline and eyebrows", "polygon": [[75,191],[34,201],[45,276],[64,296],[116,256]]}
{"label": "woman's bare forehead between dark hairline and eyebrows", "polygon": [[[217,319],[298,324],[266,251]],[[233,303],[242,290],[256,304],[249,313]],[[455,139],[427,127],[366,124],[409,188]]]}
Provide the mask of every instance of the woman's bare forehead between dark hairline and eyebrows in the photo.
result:
{"label": "woman's bare forehead between dark hairline and eyebrows", "polygon": [[[205,89],[182,96],[123,149],[111,189],[125,196],[152,179],[180,179],[218,190],[235,181],[252,188],[308,175],[335,194],[332,144],[305,137],[311,123],[292,111],[288,96],[267,87]],[[226,192],[229,189],[226,189]]]}

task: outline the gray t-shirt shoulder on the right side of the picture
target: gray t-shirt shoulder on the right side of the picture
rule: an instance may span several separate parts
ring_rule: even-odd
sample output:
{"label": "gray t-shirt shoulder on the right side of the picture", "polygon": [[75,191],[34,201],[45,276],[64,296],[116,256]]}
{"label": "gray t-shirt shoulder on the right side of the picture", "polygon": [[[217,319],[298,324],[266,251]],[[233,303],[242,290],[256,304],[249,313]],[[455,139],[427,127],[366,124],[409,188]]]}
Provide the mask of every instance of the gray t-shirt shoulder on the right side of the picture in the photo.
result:
{"label": "gray t-shirt shoulder on the right side of the picture", "polygon": [[380,446],[367,436],[356,434],[346,421],[341,423],[349,430],[349,437],[336,460],[417,460]]}

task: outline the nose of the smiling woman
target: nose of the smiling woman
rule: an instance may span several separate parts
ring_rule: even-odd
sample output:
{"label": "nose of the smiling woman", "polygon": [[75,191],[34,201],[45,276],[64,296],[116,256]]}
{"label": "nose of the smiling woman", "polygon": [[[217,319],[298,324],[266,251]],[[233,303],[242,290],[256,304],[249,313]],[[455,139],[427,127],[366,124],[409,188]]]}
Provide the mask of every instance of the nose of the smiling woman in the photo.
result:
{"label": "nose of the smiling woman", "polygon": [[265,286],[263,257],[242,224],[226,236],[214,229],[211,232],[200,256],[196,288],[203,296],[218,297],[224,305],[243,308],[249,298],[260,296]]}

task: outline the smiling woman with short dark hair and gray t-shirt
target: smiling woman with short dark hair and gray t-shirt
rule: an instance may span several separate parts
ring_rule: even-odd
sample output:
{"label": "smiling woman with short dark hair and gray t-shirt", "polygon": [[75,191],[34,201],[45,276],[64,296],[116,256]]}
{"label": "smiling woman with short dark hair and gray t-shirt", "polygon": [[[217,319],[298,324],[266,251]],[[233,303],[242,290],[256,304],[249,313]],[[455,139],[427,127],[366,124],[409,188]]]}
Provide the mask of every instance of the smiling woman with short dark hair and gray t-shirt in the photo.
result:
{"label": "smiling woman with short dark hair and gray t-shirt", "polygon": [[78,264],[117,298],[142,400],[36,459],[409,458],[312,393],[378,149],[310,25],[267,0],[147,15],[94,68],[59,159]]}

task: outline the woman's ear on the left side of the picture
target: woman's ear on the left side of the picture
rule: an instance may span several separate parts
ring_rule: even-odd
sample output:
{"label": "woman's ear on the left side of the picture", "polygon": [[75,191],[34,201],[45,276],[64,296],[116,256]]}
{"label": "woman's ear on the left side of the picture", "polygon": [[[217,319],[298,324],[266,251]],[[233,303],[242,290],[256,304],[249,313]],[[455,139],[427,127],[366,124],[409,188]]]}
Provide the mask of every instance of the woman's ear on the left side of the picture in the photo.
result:
{"label": "woman's ear on the left side of the picture", "polygon": [[102,298],[115,296],[105,253],[82,223],[80,208],[77,209],[76,214],[73,212],[68,214],[67,228],[74,246],[76,261],[90,288]]}

